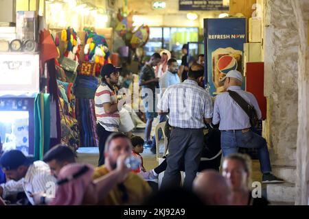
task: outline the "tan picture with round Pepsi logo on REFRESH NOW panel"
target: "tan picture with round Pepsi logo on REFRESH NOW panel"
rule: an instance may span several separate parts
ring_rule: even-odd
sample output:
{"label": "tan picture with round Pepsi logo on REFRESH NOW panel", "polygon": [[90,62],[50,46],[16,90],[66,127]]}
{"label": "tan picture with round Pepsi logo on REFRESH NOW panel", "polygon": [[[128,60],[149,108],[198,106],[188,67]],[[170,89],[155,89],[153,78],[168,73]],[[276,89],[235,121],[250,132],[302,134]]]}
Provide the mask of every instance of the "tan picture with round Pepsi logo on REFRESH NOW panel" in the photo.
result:
{"label": "tan picture with round Pepsi logo on REFRESH NOW panel", "polygon": [[218,48],[211,53],[212,82],[216,92],[224,91],[222,79],[230,70],[242,72],[242,51],[231,47]]}

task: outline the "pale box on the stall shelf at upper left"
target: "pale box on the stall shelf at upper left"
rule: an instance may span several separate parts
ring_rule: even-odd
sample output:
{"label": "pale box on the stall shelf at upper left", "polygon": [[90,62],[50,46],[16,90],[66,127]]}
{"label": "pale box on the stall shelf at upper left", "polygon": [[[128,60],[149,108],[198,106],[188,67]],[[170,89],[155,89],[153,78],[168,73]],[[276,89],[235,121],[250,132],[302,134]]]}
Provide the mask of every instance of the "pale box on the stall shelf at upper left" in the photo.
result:
{"label": "pale box on the stall shelf at upper left", "polygon": [[38,42],[38,20],[34,11],[16,12],[16,36],[19,40]]}

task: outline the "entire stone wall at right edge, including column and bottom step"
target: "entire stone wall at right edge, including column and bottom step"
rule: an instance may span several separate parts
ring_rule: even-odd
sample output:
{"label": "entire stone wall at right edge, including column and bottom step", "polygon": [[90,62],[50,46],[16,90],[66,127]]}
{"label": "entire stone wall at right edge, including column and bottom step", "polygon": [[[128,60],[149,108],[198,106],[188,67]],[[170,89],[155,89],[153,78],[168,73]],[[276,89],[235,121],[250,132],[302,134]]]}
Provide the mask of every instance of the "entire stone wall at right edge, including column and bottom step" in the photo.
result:
{"label": "entire stone wall at right edge, including column and bottom step", "polygon": [[267,186],[270,201],[307,205],[309,197],[309,0],[264,5],[266,139],[273,172],[286,180]]}

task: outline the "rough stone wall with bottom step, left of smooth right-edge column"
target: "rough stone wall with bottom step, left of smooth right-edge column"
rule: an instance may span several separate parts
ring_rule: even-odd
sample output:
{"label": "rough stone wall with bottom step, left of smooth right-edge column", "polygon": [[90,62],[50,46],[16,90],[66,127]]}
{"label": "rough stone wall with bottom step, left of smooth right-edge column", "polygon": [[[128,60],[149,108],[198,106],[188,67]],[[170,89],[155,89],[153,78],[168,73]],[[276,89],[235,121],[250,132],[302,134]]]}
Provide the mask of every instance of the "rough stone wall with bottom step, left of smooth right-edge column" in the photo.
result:
{"label": "rough stone wall with bottom step, left of smooth right-edge column", "polygon": [[273,173],[286,180],[268,185],[270,201],[294,203],[297,145],[299,38],[293,0],[264,1],[264,94],[266,140]]}

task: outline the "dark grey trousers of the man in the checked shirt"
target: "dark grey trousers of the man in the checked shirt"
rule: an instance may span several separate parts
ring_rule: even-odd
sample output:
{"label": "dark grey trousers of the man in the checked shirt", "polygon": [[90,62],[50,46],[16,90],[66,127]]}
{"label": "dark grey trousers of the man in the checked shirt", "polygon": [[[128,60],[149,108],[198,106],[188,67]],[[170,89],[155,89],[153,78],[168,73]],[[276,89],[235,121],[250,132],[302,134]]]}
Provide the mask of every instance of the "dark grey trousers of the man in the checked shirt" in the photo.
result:
{"label": "dark grey trousers of the man in the checked shirt", "polygon": [[168,167],[164,172],[161,189],[177,187],[181,183],[181,161],[185,164],[183,187],[192,190],[198,164],[203,151],[203,129],[172,128],[168,144],[169,155],[166,157]]}

